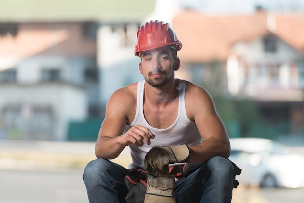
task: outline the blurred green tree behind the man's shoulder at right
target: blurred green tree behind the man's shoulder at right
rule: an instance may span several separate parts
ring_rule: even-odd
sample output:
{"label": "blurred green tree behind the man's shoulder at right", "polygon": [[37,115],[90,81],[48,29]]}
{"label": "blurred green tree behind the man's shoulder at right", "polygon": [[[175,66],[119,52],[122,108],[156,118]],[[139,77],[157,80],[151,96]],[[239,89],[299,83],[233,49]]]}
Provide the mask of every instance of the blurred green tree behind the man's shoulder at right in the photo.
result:
{"label": "blurred green tree behind the man's shoulder at right", "polygon": [[228,135],[250,136],[251,126],[261,122],[262,118],[256,103],[249,99],[236,99],[228,94],[224,63],[213,61],[203,64],[200,72],[200,80],[194,83],[203,86],[212,96]]}

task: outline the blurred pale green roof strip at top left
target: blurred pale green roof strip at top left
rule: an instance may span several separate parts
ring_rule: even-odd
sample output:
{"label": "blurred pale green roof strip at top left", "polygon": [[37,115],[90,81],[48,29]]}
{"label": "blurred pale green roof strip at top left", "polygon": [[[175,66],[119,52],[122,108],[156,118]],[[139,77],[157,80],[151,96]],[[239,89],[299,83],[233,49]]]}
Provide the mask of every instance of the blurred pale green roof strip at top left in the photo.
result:
{"label": "blurred pale green roof strip at top left", "polygon": [[0,22],[138,21],[154,10],[155,0],[3,0]]}

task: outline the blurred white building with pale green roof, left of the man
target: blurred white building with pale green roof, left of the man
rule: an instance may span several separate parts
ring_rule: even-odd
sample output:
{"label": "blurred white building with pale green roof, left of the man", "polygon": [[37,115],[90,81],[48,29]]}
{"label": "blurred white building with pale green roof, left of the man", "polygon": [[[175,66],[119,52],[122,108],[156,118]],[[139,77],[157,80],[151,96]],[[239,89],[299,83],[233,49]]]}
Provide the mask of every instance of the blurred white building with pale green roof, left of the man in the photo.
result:
{"label": "blurred white building with pale green roof, left of the man", "polygon": [[1,2],[0,139],[96,140],[101,120],[87,120],[100,117],[106,90],[129,82],[111,76],[133,66],[121,66],[126,49],[133,53],[154,8],[155,0]]}

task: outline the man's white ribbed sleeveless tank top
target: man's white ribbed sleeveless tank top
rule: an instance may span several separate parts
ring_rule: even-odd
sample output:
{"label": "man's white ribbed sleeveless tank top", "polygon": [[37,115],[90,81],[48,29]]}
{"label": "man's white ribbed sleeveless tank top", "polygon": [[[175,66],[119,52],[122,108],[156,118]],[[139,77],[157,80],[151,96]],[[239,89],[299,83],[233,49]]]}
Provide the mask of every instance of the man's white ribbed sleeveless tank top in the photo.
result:
{"label": "man's white ribbed sleeveless tank top", "polygon": [[154,146],[176,146],[181,144],[196,145],[202,141],[196,124],[189,120],[186,114],[185,80],[180,80],[178,86],[179,97],[177,118],[175,119],[174,123],[166,129],[153,128],[148,124],[144,117],[144,84],[144,80],[138,82],[136,115],[134,121],[130,125],[126,125],[125,132],[127,132],[132,126],[141,125],[149,128],[150,131],[155,135],[155,138],[151,139],[150,145],[147,145],[145,141],[142,147],[136,147],[133,144],[129,145],[132,157],[132,163],[129,165],[129,169],[142,168],[146,153]]}

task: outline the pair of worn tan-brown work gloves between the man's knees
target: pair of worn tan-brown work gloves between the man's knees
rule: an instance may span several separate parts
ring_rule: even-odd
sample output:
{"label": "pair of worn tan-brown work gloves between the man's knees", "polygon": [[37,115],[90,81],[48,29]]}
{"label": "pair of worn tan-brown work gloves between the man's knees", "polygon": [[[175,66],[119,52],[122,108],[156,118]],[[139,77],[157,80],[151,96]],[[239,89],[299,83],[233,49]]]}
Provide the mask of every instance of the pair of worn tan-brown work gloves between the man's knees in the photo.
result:
{"label": "pair of worn tan-brown work gloves between the man's knees", "polygon": [[187,145],[151,148],[144,161],[144,169],[148,173],[145,203],[175,203],[175,172],[169,173],[168,164],[186,161],[189,155]]}

